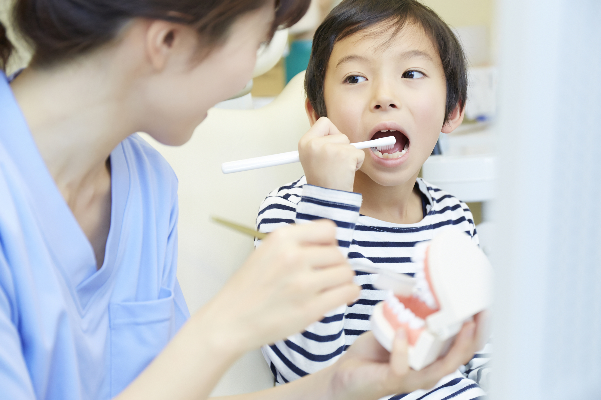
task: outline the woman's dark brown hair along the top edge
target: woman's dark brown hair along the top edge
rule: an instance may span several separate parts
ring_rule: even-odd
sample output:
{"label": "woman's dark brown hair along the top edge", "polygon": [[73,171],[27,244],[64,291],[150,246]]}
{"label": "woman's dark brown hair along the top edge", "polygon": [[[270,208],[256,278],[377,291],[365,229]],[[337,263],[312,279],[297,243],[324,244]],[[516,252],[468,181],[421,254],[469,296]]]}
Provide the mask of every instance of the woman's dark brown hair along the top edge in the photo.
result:
{"label": "woman's dark brown hair along the top edge", "polygon": [[[132,18],[162,19],[197,29],[204,47],[221,43],[234,21],[269,0],[17,0],[16,28],[34,50],[32,65],[72,58],[111,41]],[[307,12],[310,0],[276,0],[271,34]],[[0,68],[13,47],[0,24]]]}

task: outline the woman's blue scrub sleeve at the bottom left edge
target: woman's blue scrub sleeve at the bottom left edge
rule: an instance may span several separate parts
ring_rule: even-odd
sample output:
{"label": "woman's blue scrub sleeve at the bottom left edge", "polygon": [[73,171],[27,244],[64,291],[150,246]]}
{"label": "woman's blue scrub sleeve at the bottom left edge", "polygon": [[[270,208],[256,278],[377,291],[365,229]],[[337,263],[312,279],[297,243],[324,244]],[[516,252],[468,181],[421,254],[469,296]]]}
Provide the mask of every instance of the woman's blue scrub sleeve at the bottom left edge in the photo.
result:
{"label": "woman's blue scrub sleeve at the bottom left edge", "polygon": [[17,312],[11,302],[14,298],[11,282],[8,263],[0,250],[0,393],[6,399],[33,400],[35,392],[21,351]]}

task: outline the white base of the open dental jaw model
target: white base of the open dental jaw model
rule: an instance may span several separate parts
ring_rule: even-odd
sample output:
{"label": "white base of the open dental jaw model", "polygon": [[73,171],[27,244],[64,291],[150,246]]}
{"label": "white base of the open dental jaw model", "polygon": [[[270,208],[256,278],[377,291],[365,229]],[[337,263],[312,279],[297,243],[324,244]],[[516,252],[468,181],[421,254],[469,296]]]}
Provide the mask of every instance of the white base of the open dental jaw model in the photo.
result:
{"label": "white base of the open dental jaw model", "polygon": [[[437,309],[431,310],[427,316],[422,315],[425,317],[425,326],[419,330],[405,327],[401,316],[394,320],[394,315],[385,311],[385,307],[394,309],[394,300],[378,303],[370,318],[374,336],[388,351],[392,351],[395,327],[406,330],[409,339],[409,366],[416,371],[444,356],[463,323],[489,307],[492,292],[492,267],[468,235],[448,229],[432,241],[418,246],[421,249],[416,249],[418,255],[413,261],[423,262],[419,267],[426,273]],[[413,300],[416,297],[429,300],[427,296],[424,297],[424,292],[417,294],[416,286],[413,289]],[[395,297],[402,302],[406,293]]]}

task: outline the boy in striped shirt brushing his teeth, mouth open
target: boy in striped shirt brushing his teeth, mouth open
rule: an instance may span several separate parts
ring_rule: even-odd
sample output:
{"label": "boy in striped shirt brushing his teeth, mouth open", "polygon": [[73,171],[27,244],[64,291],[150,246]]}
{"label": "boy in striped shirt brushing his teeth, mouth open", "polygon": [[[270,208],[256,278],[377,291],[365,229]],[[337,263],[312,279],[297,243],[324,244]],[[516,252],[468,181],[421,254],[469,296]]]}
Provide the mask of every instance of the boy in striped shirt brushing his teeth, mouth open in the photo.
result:
{"label": "boy in striped shirt brushing his teeth, mouth open", "polygon": [[[259,231],[331,219],[351,261],[368,259],[409,274],[413,246],[437,229],[454,225],[478,243],[466,204],[417,178],[439,133],[462,123],[467,92],[461,46],[432,10],[415,0],[343,1],[316,31],[305,89],[312,126],[299,142],[305,176],[267,196],[257,217]],[[391,135],[396,138],[391,150],[349,145]],[[263,347],[278,383],[331,365],[370,329],[373,306],[386,295],[372,286],[375,279],[356,271],[362,291],[355,303]],[[466,376],[480,381],[486,375],[484,368],[474,368],[484,366],[483,356],[472,359]],[[393,398],[484,395],[458,371],[429,392]]]}

